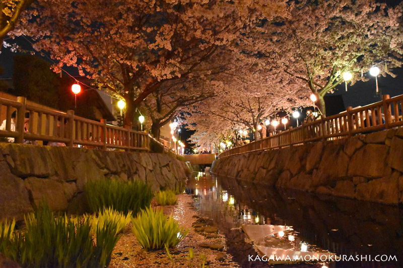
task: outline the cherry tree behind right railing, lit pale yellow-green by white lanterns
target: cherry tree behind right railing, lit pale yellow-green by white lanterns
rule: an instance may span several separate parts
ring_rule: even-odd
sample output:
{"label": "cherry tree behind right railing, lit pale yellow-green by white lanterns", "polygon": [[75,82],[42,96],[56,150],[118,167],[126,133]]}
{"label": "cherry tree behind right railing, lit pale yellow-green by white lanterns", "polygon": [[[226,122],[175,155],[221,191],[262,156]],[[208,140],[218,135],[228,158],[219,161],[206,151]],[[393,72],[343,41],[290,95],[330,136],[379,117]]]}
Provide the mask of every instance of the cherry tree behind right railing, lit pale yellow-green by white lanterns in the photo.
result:
{"label": "cherry tree behind right railing, lit pale yellow-green by white lanterns", "polygon": [[290,2],[290,13],[256,25],[254,38],[245,38],[243,49],[252,48],[249,53],[305,84],[323,114],[323,96],[344,82],[345,72],[353,74],[354,83],[379,62],[387,63],[379,65],[382,75],[393,75],[391,68],[402,64],[401,4],[303,0]]}

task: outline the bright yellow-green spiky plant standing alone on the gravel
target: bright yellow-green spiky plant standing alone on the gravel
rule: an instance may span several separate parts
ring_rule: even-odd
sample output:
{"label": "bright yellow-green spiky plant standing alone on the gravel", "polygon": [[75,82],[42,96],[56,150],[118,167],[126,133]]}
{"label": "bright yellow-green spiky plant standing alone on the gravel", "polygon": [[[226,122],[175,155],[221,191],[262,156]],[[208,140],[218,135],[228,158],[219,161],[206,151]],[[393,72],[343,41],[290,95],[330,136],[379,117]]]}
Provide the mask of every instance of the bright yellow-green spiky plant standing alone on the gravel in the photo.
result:
{"label": "bright yellow-green spiky plant standing alone on the gravel", "polygon": [[131,231],[146,250],[176,246],[189,232],[179,226],[161,210],[146,208],[137,218],[132,218]]}

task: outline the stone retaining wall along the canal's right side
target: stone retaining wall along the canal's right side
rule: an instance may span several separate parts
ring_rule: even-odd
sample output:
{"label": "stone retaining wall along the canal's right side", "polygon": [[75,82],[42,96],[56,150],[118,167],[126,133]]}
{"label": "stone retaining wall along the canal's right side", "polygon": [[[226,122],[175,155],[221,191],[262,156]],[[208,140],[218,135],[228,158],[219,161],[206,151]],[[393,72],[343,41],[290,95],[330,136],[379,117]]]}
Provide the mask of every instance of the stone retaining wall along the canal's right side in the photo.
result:
{"label": "stone retaining wall along the canal's right side", "polygon": [[212,172],[278,188],[398,204],[403,128],[224,157]]}

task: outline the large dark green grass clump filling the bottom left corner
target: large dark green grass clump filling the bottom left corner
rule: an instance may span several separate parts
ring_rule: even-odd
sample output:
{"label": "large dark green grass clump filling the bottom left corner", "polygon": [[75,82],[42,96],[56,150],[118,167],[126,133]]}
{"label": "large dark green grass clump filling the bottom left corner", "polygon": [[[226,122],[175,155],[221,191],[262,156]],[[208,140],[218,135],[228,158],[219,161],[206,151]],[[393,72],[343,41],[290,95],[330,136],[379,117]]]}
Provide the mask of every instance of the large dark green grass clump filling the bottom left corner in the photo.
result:
{"label": "large dark green grass clump filling the bottom left corner", "polygon": [[13,223],[0,223],[0,251],[22,267],[105,267],[120,238],[107,222],[94,239],[90,219],[55,218],[48,206],[24,218],[26,230],[14,233]]}

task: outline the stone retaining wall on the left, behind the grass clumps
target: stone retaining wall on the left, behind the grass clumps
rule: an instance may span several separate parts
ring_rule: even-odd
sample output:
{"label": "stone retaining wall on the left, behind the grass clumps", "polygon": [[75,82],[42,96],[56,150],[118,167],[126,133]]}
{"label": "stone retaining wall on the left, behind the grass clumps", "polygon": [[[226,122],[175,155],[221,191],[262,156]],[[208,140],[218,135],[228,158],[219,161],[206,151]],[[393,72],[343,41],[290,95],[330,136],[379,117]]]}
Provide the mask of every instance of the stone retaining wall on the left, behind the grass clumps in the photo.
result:
{"label": "stone retaining wall on the left, behind the grass clumps", "polygon": [[87,181],[142,180],[157,191],[189,172],[166,154],[0,143],[0,220],[22,219],[42,199],[53,211],[82,212]]}

